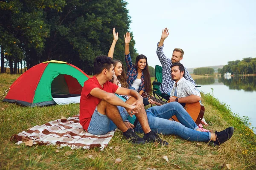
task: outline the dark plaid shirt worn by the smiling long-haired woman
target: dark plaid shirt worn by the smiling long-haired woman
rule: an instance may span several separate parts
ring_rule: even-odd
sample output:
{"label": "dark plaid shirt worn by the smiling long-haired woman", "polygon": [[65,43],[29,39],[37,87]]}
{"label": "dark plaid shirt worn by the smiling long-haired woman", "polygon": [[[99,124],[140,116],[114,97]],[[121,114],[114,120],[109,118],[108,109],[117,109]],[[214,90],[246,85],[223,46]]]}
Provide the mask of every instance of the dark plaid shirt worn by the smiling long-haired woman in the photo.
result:
{"label": "dark plaid shirt worn by the smiling long-haired woman", "polygon": [[[126,62],[126,66],[127,66],[127,83],[129,85],[129,87],[131,87],[132,84],[134,83],[134,80],[137,79],[138,71],[136,70],[135,65],[131,61],[130,53],[128,55],[125,55],[125,62]],[[142,90],[145,91],[144,84],[145,84],[145,82],[144,82],[144,76],[143,76],[143,72],[142,72],[141,83],[139,86],[139,92]]]}

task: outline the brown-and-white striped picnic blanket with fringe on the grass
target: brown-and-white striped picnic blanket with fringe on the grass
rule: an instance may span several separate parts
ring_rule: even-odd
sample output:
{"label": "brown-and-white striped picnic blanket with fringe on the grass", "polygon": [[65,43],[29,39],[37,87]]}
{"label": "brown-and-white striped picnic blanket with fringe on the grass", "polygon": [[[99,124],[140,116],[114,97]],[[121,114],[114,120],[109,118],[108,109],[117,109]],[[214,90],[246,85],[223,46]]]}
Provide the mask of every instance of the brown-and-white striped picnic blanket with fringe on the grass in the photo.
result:
{"label": "brown-and-white striped picnic blanket with fringe on the grass", "polygon": [[33,140],[33,144],[69,146],[71,149],[100,147],[103,150],[112,139],[114,131],[105,135],[93,135],[84,131],[79,123],[79,115],[67,119],[57,119],[11,137],[11,141],[21,144]]}

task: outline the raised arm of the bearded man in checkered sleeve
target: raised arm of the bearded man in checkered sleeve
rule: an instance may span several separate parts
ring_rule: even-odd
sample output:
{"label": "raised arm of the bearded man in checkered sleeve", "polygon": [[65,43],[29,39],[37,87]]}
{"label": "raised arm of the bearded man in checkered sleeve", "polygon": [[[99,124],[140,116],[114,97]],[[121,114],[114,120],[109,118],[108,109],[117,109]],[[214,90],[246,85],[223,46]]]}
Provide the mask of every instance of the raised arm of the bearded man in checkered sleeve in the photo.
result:
{"label": "raised arm of the bearded man in checkered sleeve", "polygon": [[164,66],[167,63],[167,58],[163,53],[163,42],[168,37],[168,35],[168,28],[164,28],[162,31],[160,42],[157,45],[157,57],[159,58],[162,66]]}

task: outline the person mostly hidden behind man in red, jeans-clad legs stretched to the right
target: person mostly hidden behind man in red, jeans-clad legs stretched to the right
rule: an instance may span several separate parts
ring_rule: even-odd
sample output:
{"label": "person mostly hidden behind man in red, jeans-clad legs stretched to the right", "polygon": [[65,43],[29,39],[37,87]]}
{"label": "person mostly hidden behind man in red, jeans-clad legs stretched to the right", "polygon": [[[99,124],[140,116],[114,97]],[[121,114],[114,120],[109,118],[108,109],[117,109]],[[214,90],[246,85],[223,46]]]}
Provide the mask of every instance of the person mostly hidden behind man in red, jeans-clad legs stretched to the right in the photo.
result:
{"label": "person mostly hidden behind man in red, jeans-clad legs stretched to the right", "polygon": [[[118,84],[118,79],[113,76],[112,82]],[[120,99],[126,101],[122,96]],[[152,102],[151,99],[148,102]],[[195,124],[191,116],[186,110],[177,102],[170,102],[161,106],[153,106],[146,110],[148,117],[148,124],[151,130],[155,133],[162,133],[163,135],[177,135],[189,141],[209,142],[209,144],[220,145],[231,138],[234,132],[233,127],[228,127],[221,132],[215,133],[201,132]],[[169,120],[172,116],[176,116],[179,122]],[[128,117],[125,121],[128,128],[134,129],[136,132],[142,133],[143,128],[136,116]]]}

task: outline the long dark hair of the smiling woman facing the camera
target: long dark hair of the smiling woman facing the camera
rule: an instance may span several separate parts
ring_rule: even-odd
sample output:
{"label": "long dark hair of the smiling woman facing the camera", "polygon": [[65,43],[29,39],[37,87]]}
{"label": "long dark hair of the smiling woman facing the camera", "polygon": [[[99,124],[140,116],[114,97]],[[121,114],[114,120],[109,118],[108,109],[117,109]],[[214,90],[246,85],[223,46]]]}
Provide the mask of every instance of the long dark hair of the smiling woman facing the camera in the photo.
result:
{"label": "long dark hair of the smiling woman facing the camera", "polygon": [[149,69],[148,69],[148,59],[143,54],[138,55],[136,57],[136,61],[135,61],[135,68],[137,70],[138,70],[138,62],[139,62],[140,59],[146,59],[146,66],[143,68],[142,72],[143,72],[143,75],[144,75],[145,91],[150,94],[152,92],[152,86],[151,86],[150,73],[149,73]]}

